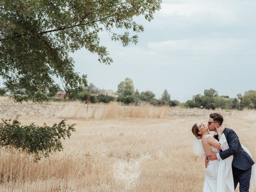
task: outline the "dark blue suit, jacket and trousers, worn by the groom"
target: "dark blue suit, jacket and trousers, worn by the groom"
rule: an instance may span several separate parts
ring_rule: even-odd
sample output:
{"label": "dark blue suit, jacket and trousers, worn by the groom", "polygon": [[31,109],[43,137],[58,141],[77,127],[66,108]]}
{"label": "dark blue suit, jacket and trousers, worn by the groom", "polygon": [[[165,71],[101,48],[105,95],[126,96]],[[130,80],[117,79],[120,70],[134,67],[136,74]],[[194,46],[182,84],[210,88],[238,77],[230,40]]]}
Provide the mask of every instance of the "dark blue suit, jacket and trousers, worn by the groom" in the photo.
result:
{"label": "dark blue suit, jacket and trousers, worn by the groom", "polygon": [[[239,182],[240,192],[248,192],[250,187],[250,178],[252,174],[252,165],[254,164],[254,161],[249,156],[249,154],[243,150],[239,142],[238,136],[232,129],[225,128],[223,133],[225,134],[228,141],[229,149],[220,152],[220,158],[224,160],[230,155],[234,155],[232,161],[234,186],[236,188]],[[218,140],[218,135],[214,136],[214,138]]]}

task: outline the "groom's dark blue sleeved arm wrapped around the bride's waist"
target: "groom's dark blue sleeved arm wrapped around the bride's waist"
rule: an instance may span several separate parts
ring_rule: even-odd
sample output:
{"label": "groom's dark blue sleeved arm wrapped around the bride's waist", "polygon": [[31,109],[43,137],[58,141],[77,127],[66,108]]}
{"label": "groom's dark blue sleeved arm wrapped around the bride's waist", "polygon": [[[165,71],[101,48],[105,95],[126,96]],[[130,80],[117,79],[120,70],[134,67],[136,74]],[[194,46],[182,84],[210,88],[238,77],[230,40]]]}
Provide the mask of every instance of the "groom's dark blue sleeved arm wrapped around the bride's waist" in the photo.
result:
{"label": "groom's dark blue sleeved arm wrapped around the bride's waist", "polygon": [[227,140],[229,148],[219,153],[222,160],[228,158],[230,155],[234,155],[238,149],[238,136],[233,130],[230,130]]}

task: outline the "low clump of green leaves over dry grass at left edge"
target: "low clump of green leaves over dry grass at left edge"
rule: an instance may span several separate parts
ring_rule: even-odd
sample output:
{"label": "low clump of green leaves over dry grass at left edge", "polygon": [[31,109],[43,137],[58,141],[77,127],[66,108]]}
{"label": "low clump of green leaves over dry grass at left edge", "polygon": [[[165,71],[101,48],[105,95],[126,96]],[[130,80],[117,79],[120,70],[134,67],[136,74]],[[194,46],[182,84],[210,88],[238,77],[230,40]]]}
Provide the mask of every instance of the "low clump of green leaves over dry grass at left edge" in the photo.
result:
{"label": "low clump of green leaves over dry grass at left edge", "polygon": [[35,154],[35,160],[49,156],[53,151],[63,150],[61,139],[70,138],[75,131],[75,124],[66,125],[66,120],[58,124],[37,126],[21,126],[18,118],[11,121],[2,119],[0,123],[0,146],[15,148]]}

